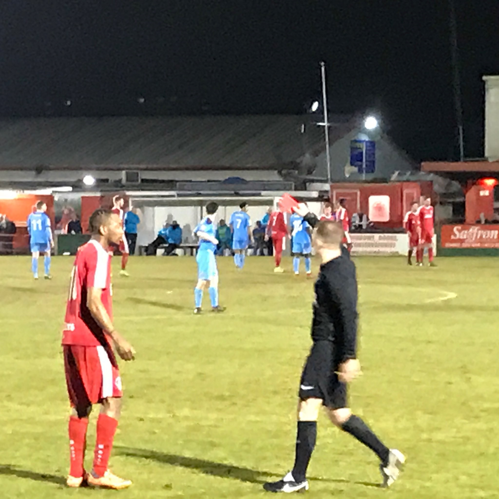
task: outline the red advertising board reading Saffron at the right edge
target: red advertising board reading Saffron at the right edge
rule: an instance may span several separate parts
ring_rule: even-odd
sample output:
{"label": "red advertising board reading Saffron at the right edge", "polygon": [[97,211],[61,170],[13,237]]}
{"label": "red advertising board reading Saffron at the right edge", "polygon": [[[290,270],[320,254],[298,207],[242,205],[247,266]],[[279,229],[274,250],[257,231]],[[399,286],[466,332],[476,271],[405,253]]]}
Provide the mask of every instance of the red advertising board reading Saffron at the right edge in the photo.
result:
{"label": "red advertising board reading Saffron at the right edge", "polygon": [[499,225],[444,225],[442,248],[498,248]]}

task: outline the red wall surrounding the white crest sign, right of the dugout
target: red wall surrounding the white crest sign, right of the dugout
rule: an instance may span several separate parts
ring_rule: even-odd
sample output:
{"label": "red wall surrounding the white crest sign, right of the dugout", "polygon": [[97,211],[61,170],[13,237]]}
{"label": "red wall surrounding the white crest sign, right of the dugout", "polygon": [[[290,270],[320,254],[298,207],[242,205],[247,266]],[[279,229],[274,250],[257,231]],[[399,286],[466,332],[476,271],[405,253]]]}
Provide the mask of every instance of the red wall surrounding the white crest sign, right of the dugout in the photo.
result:
{"label": "red wall surrounding the white crest sign, right of the dugout", "polygon": [[395,182],[390,184],[331,184],[331,201],[346,199],[346,209],[353,213],[369,213],[370,196],[390,197],[390,220],[376,222],[378,227],[391,229],[403,226],[406,212],[411,203],[420,201],[421,196],[433,195],[431,182]]}

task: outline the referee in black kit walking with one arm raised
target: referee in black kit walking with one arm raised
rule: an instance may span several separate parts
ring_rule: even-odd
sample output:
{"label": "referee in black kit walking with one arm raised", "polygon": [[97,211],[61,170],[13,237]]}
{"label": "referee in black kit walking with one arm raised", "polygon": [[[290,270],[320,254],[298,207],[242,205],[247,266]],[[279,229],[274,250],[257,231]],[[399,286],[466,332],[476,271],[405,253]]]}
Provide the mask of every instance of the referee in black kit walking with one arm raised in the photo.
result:
{"label": "referee in black kit walking with one arm raised", "polygon": [[306,471],[315,447],[317,417],[325,406],[331,422],[371,449],[380,459],[383,485],[399,477],[404,455],[386,447],[372,430],[351,413],[347,383],[360,374],[357,360],[357,276],[347,251],[341,248],[343,230],[332,221],[319,222],[305,205],[295,211],[316,227],[313,244],[322,259],[315,282],[313,304],[313,345],[306,360],[298,393],[298,429],[293,469],[278,482],[268,482],[268,492],[308,490]]}

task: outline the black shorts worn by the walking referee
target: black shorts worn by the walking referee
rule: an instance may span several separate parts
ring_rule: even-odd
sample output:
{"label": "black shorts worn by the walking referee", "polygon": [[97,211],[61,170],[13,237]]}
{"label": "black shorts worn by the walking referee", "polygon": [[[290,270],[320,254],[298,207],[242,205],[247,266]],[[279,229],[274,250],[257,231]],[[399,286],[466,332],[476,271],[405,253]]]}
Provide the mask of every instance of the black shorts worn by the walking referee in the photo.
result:
{"label": "black shorts worn by the walking referee", "polygon": [[346,383],[335,373],[338,364],[334,345],[330,341],[316,341],[301,373],[298,397],[322,399],[323,405],[331,409],[348,407]]}

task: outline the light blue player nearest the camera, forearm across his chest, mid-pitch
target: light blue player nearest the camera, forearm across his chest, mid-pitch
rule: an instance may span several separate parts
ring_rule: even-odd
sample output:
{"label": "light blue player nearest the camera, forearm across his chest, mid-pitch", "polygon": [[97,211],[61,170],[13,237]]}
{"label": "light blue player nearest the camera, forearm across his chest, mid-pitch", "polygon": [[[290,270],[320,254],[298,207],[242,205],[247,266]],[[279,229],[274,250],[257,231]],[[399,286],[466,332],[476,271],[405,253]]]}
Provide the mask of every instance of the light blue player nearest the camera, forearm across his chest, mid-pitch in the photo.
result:
{"label": "light blue player nearest the camera, forearm across his chest, mid-pitch", "polygon": [[218,204],[213,201],[206,205],[206,217],[194,229],[194,236],[199,238],[199,249],[196,255],[198,262],[198,284],[194,289],[194,301],[196,308],[194,313],[201,313],[203,303],[203,291],[208,287],[212,310],[214,312],[223,312],[224,307],[219,305],[218,301],[218,269],[215,251],[217,250],[218,240],[215,238],[217,226],[215,224],[215,214],[218,210]]}

